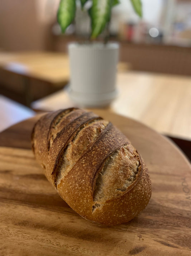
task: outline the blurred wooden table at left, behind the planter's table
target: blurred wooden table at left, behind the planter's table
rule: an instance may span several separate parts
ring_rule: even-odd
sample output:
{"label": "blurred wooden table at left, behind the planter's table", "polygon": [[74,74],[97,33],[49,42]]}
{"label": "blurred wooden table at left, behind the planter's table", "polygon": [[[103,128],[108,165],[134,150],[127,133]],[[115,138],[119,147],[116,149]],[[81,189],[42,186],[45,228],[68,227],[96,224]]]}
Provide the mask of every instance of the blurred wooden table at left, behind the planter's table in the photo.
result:
{"label": "blurred wooden table at left, behind the planter's table", "polygon": [[31,79],[47,82],[60,89],[69,80],[68,56],[55,52],[0,53],[0,71],[22,77],[27,105],[32,101]]}

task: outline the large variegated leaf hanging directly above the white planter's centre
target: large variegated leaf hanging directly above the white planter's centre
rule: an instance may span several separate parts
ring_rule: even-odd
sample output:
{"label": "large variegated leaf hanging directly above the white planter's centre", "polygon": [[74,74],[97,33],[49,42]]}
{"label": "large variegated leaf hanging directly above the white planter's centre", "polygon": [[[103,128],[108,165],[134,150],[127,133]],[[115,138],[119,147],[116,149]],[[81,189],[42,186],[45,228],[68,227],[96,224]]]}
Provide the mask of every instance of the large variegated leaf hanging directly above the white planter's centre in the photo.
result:
{"label": "large variegated leaf hanging directly above the white planter's centre", "polygon": [[104,30],[106,23],[110,20],[113,0],[93,0],[89,10],[91,18],[91,37],[96,38]]}

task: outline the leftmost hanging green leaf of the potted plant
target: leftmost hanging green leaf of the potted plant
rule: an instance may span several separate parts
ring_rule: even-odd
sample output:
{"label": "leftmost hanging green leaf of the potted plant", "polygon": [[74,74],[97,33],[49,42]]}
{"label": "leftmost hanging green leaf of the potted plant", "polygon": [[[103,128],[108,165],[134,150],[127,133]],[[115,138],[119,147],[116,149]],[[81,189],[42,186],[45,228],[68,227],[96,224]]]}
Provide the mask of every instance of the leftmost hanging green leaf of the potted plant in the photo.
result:
{"label": "leftmost hanging green leaf of the potted plant", "polygon": [[59,3],[57,20],[61,26],[62,33],[72,23],[76,13],[76,0],[61,0]]}

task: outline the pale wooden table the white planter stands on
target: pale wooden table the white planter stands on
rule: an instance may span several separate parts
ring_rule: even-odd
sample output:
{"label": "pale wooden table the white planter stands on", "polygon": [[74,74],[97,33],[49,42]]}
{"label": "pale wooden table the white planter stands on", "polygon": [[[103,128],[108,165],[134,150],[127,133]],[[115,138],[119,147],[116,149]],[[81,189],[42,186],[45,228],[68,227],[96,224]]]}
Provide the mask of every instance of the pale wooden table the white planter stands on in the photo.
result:
{"label": "pale wooden table the white planter stands on", "polygon": [[[191,140],[191,77],[143,72],[118,73],[119,96],[109,110],[134,118],[159,133]],[[67,90],[32,103],[36,110],[75,105]]]}

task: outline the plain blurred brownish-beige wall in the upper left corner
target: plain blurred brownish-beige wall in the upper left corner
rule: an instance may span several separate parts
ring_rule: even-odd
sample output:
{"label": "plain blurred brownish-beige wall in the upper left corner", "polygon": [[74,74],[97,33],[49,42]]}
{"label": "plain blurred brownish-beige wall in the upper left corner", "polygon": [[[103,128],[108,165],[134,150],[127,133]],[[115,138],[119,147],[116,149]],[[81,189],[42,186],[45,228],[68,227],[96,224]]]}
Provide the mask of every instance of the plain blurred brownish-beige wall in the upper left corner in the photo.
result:
{"label": "plain blurred brownish-beige wall in the upper left corner", "polygon": [[0,49],[49,49],[50,22],[40,21],[37,1],[1,0],[0,5]]}

